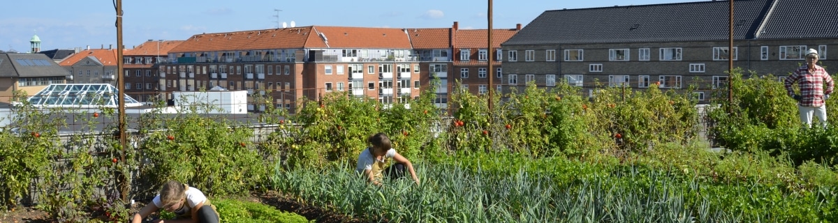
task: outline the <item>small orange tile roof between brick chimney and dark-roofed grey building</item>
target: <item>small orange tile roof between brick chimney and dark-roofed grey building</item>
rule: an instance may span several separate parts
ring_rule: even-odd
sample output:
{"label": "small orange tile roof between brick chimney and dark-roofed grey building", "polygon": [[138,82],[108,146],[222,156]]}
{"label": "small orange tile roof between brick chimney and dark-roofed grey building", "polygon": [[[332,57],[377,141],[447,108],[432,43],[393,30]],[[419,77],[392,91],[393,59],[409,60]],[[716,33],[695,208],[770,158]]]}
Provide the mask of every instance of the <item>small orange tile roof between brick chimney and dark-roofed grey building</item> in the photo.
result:
{"label": "small orange tile roof between brick chimney and dark-roofed grey building", "polygon": [[[486,48],[488,43],[489,29],[460,29],[455,31],[455,38],[453,48]],[[500,43],[512,38],[518,33],[513,29],[493,29],[492,31],[492,48],[500,48]]]}

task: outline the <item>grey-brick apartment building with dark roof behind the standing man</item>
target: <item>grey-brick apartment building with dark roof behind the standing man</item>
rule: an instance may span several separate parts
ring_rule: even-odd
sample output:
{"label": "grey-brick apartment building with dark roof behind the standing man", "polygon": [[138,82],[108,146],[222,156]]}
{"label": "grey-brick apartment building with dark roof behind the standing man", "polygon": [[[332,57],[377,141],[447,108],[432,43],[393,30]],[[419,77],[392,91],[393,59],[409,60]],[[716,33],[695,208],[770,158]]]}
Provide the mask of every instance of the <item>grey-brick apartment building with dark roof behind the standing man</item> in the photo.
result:
{"label": "grey-brick apartment building with dark roof behind the standing man", "polygon": [[[604,86],[695,91],[706,103],[727,84],[733,66],[784,79],[804,62],[807,48],[820,63],[838,66],[838,4],[802,0],[735,1],[733,49],[728,48],[729,2],[550,10],[502,44],[504,90],[534,81],[550,88],[557,79],[593,94]],[[804,10],[803,8],[818,8]],[[805,12],[804,12],[805,11]]]}

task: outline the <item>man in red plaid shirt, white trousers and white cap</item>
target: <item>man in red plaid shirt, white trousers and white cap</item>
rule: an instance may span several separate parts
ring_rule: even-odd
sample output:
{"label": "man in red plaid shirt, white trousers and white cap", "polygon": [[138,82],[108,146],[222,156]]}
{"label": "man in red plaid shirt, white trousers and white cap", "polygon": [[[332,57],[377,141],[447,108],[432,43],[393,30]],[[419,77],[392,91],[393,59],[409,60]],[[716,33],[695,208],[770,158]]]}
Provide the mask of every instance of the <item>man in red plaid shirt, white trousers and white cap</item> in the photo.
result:
{"label": "man in red plaid shirt, white trousers and white cap", "polygon": [[[826,99],[830,98],[833,82],[829,73],[818,66],[818,51],[810,48],[806,51],[806,65],[794,70],[785,79],[786,91],[789,96],[799,102],[800,121],[812,127],[813,114],[820,119],[820,124],[826,127]],[[797,82],[800,94],[794,94],[791,85]],[[826,84],[826,89],[824,89]]]}

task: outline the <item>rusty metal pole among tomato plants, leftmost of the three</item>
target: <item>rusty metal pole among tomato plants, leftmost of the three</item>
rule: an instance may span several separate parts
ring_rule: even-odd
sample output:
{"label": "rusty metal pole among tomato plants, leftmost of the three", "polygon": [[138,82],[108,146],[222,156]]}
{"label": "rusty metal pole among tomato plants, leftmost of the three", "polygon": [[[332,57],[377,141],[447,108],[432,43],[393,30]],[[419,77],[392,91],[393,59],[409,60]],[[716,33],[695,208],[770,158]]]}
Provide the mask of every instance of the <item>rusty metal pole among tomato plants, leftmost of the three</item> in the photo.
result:
{"label": "rusty metal pole among tomato plants, leftmost of the three", "polygon": [[[119,100],[119,144],[122,147],[120,153],[120,160],[125,162],[125,75],[122,75],[122,0],[116,0],[116,71],[118,79],[116,79],[116,89],[119,94],[116,94]],[[128,200],[128,186],[126,185],[126,176],[124,173],[117,176],[120,190],[122,191],[122,201]]]}

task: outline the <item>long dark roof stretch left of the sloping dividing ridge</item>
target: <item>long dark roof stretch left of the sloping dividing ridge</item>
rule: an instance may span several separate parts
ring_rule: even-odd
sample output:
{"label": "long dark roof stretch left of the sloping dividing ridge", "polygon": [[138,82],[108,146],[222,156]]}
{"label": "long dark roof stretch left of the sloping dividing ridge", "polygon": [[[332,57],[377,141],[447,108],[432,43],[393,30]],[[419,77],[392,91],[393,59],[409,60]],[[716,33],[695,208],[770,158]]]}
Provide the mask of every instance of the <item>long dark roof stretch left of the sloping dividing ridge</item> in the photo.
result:
{"label": "long dark roof stretch left of the sloping dividing ridge", "polygon": [[[753,38],[770,6],[770,0],[735,1],[734,38]],[[728,7],[727,1],[705,1],[551,10],[504,45],[725,40]]]}

